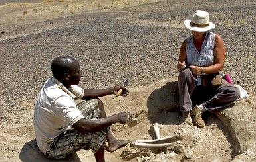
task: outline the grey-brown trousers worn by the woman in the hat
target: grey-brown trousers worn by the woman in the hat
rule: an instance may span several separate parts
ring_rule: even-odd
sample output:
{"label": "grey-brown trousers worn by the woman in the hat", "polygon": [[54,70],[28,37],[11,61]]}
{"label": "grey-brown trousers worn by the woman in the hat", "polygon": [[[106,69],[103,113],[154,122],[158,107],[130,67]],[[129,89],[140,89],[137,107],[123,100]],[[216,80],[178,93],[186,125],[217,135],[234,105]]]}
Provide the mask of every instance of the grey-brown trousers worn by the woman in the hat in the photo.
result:
{"label": "grey-brown trousers worn by the woman in the hat", "polygon": [[178,77],[180,111],[192,110],[196,104],[202,104],[205,110],[219,110],[233,104],[239,99],[240,91],[223,79],[219,87],[202,87],[197,85],[197,75],[190,68],[180,72]]}

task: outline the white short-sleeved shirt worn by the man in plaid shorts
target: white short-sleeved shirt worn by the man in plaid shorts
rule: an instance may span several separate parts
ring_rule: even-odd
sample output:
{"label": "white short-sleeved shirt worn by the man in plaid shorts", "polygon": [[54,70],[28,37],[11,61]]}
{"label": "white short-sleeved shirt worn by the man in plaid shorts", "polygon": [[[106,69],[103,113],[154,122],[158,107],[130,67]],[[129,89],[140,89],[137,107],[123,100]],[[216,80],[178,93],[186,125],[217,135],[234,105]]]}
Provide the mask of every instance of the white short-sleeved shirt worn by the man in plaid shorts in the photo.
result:
{"label": "white short-sleeved shirt worn by the man in plaid shorts", "polygon": [[54,138],[84,118],[70,95],[74,99],[81,99],[84,89],[72,85],[68,90],[54,77],[45,82],[39,93],[34,112],[34,127],[37,145],[44,154]]}

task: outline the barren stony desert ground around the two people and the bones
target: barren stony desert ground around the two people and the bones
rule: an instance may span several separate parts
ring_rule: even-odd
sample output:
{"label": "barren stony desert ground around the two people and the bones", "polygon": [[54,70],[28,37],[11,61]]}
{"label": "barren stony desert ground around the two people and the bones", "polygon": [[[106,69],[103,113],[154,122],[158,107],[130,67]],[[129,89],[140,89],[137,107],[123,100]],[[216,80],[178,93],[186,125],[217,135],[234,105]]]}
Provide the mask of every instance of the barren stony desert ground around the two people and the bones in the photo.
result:
{"label": "barren stony desert ground around the two people and the bones", "polygon": [[[51,60],[70,55],[81,65],[80,85],[100,89],[130,79],[127,97],[102,97],[108,115],[129,111],[138,125],[114,124],[131,143],[106,161],[256,161],[256,2],[185,0],[3,0],[0,2],[0,161],[45,159],[35,143],[33,109]],[[224,73],[249,98],[206,113],[206,126],[182,124],[178,111],[176,61],[190,31],[184,20],[197,10],[210,13],[226,46]],[[173,136],[170,147],[138,147]],[[94,161],[78,151],[61,161]]]}

